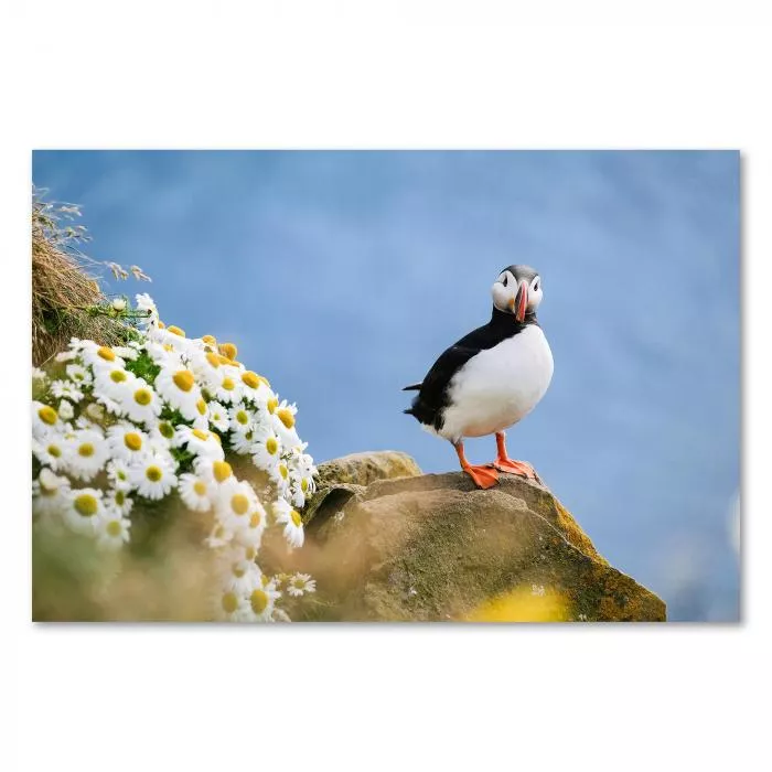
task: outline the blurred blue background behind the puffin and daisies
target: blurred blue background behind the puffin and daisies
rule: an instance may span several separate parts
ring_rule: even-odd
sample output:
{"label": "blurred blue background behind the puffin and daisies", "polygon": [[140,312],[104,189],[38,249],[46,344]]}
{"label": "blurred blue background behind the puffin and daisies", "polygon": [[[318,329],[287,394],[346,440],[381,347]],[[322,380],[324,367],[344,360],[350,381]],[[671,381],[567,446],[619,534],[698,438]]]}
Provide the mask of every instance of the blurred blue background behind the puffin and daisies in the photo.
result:
{"label": "blurred blue background behind the puffin and daisies", "polygon": [[671,620],[739,618],[737,152],[37,151],[33,181],[83,205],[87,254],[153,279],[114,291],[234,341],[297,401],[318,461],[455,469],[400,388],[533,265],[555,376],[512,455]]}

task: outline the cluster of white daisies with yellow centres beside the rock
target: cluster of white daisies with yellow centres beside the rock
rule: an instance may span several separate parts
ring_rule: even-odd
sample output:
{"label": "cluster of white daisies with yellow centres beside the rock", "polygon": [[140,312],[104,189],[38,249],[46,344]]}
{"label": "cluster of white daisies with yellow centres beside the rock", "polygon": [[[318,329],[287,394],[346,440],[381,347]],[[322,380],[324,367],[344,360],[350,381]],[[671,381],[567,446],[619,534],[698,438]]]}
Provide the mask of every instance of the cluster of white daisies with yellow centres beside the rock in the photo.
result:
{"label": "cluster of white daisies with yellow centres beside the rock", "polygon": [[[282,597],[315,585],[267,576],[258,560],[267,528],[290,549],[303,544],[299,510],[317,469],[297,407],[239,363],[232,343],[165,326],[147,293],[137,310],[143,321],[126,346],[73,339],[49,372],[33,371],[33,517],[120,549],[132,513],[174,498],[206,518],[221,576],[213,614],[285,620]],[[234,455],[264,473],[261,496],[238,479]]]}

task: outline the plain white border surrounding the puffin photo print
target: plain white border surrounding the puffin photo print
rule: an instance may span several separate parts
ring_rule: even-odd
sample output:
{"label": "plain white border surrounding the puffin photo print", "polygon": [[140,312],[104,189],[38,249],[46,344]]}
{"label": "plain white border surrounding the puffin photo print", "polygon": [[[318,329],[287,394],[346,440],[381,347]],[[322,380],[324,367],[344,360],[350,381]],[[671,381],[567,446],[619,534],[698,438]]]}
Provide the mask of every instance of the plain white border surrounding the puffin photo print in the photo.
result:
{"label": "plain white border surrounding the puffin photo print", "polygon": [[[471,6],[36,2],[2,25],[14,686],[3,700],[19,751],[4,769],[754,769],[764,758],[751,696],[770,672],[765,20],[750,2],[651,0],[625,13],[480,1],[470,18]],[[33,147],[741,148],[746,624],[31,626]]]}

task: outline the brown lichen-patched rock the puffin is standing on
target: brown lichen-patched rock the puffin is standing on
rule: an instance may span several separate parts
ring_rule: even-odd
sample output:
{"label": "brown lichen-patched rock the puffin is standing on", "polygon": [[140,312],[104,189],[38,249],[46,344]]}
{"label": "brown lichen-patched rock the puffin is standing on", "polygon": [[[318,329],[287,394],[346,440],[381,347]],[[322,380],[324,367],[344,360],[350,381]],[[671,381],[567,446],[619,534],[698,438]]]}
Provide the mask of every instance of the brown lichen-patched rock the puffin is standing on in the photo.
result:
{"label": "brown lichen-patched rock the puffin is standing on", "polygon": [[407,474],[388,479],[375,455],[323,464],[302,550],[318,619],[665,620],[663,601],[610,566],[544,485],[502,474],[480,491],[461,472],[420,475],[401,453],[385,470]]}

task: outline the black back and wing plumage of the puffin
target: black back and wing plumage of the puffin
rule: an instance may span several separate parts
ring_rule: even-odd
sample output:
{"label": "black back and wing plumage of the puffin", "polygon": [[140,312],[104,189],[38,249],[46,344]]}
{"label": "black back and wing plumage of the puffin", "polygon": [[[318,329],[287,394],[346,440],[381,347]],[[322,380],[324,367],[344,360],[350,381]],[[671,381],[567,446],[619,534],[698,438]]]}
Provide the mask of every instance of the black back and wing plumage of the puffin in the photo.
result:
{"label": "black back and wing plumage of the puffin", "polygon": [[504,313],[493,308],[491,321],[473,330],[447,349],[431,366],[418,388],[418,395],[412,406],[405,410],[410,416],[436,430],[442,428],[443,410],[448,407],[448,386],[455,373],[463,367],[475,354],[486,349],[493,349],[507,337],[516,335],[529,324],[538,324],[536,314],[528,311],[523,322],[518,322],[511,313]]}

